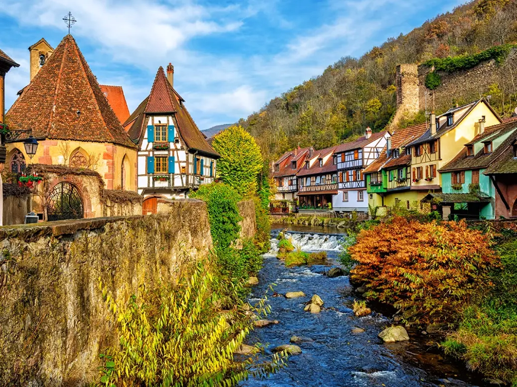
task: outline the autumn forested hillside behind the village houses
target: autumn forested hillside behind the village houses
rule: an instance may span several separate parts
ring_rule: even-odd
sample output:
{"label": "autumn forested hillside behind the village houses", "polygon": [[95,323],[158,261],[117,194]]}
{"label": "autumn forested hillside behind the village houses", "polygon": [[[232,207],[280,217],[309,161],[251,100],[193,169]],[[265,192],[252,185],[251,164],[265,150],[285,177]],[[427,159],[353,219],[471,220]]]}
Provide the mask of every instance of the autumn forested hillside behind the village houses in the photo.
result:
{"label": "autumn forested hillside behind the village houses", "polygon": [[[407,35],[388,39],[359,59],[342,58],[322,75],[241,119],[240,124],[256,138],[267,160],[297,145],[317,149],[333,146],[359,136],[367,126],[376,132],[389,123],[396,111],[396,67],[400,63],[434,64],[431,59],[447,57],[468,63],[490,47],[515,41],[517,0],[474,0]],[[507,53],[511,46],[505,47]],[[517,80],[513,82],[513,74],[508,79],[510,86],[494,84],[485,90],[501,116],[510,115],[517,106]],[[423,120],[421,111],[407,117],[402,125]]]}

